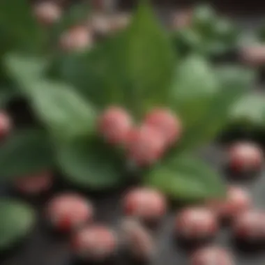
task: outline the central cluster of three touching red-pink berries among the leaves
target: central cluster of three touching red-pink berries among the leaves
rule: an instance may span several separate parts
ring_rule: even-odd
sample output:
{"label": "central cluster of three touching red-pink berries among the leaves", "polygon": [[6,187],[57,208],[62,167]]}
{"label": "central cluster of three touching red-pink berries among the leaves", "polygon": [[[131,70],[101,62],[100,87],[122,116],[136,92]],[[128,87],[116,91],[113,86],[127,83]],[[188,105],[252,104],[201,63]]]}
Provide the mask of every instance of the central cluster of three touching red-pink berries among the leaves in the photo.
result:
{"label": "central cluster of three touching red-pink berries among the leaves", "polygon": [[109,144],[123,146],[130,162],[144,167],[157,162],[179,141],[182,126],[168,109],[153,109],[142,125],[134,126],[125,109],[109,107],[100,116],[98,131]]}

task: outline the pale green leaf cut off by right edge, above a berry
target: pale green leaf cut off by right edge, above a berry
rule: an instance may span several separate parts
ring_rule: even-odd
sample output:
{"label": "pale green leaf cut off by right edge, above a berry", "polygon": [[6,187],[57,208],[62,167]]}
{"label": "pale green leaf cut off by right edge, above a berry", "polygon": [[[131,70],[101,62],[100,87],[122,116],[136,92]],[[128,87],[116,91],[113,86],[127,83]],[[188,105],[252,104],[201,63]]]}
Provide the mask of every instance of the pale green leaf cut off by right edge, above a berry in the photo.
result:
{"label": "pale green leaf cut off by right edge, above a berry", "polygon": [[265,127],[265,98],[260,93],[248,93],[237,100],[230,114],[230,123]]}

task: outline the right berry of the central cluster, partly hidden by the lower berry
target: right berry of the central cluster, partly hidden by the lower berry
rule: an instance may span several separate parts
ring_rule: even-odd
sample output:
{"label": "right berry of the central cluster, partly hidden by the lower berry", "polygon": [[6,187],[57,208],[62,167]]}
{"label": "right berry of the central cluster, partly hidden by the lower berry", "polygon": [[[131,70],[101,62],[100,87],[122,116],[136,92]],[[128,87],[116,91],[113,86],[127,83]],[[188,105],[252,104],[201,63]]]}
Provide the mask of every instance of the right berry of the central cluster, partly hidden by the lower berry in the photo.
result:
{"label": "right berry of the central cluster, partly hidden by the lower berry", "polygon": [[167,109],[153,109],[146,115],[144,123],[156,128],[165,138],[167,146],[174,144],[181,137],[181,121]]}

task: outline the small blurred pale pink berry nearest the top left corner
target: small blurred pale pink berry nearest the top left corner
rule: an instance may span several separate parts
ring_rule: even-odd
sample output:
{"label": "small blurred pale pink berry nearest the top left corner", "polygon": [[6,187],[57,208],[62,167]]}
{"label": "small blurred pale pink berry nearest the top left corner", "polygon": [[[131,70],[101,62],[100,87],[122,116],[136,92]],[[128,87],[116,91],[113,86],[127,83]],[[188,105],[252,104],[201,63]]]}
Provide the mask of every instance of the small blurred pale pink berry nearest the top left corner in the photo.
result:
{"label": "small blurred pale pink berry nearest the top left corner", "polygon": [[33,6],[33,13],[40,24],[50,25],[60,19],[61,8],[52,1],[43,1]]}

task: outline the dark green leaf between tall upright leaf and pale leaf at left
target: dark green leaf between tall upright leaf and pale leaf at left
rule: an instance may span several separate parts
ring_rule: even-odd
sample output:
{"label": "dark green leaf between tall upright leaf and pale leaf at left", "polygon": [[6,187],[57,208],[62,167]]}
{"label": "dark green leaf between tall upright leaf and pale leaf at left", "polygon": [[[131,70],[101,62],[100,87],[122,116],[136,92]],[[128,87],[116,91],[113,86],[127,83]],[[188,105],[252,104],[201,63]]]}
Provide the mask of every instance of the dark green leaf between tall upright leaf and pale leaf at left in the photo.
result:
{"label": "dark green leaf between tall upright leaf and pale leaf at left", "polygon": [[123,36],[115,36],[91,51],[58,56],[52,61],[48,75],[73,84],[97,107],[125,105],[123,42]]}

